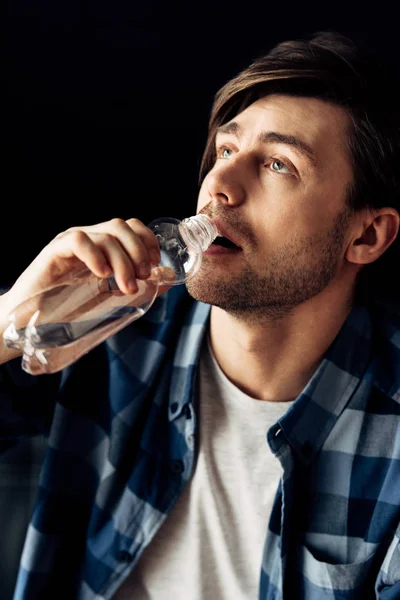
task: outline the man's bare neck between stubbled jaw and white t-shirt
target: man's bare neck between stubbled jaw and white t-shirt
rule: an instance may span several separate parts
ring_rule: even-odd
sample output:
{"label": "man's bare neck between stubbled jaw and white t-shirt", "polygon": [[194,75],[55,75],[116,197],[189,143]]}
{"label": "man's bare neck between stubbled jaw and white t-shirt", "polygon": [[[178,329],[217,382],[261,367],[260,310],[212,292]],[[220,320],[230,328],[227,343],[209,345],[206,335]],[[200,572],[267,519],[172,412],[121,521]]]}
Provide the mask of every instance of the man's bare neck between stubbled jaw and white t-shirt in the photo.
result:
{"label": "man's bare neck between stubbled jaw and white t-shirt", "polygon": [[353,290],[326,288],[279,320],[238,318],[213,306],[210,340],[225,375],[253,398],[295,400],[353,304]]}

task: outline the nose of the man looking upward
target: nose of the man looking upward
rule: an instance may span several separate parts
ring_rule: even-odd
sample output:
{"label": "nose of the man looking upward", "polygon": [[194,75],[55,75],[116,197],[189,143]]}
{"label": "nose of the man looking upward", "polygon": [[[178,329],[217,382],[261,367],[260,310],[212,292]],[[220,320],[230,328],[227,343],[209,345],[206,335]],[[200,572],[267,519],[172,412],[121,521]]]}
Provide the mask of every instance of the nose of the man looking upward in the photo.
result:
{"label": "nose of the man looking upward", "polygon": [[207,190],[210,199],[230,206],[242,204],[245,200],[243,181],[243,168],[234,164],[233,160],[227,160],[224,165],[215,167],[207,175]]}

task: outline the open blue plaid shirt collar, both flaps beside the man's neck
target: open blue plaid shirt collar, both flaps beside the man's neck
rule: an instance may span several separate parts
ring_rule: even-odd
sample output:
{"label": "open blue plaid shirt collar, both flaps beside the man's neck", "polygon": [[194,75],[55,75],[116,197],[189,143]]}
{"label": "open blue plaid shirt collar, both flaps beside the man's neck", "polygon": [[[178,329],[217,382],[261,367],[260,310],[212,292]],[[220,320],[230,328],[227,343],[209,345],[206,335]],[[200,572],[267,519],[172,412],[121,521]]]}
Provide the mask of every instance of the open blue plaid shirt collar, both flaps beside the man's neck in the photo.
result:
{"label": "open blue plaid shirt collar, both flaps beside the man's neck", "polygon": [[[193,302],[180,331],[172,366],[170,420],[179,417],[194,397],[196,367],[210,308],[209,304]],[[386,330],[389,328],[392,337],[398,336],[400,323],[395,323],[382,308],[379,318],[384,319]],[[383,325],[379,327],[383,328]],[[383,329],[382,333],[385,337],[388,335]],[[311,462],[366,377],[374,349],[370,311],[366,306],[356,304],[296,402],[268,431],[271,449],[278,451],[286,441],[304,463]],[[397,386],[398,389],[398,383],[392,382],[392,388]],[[277,436],[278,430],[284,435]]]}

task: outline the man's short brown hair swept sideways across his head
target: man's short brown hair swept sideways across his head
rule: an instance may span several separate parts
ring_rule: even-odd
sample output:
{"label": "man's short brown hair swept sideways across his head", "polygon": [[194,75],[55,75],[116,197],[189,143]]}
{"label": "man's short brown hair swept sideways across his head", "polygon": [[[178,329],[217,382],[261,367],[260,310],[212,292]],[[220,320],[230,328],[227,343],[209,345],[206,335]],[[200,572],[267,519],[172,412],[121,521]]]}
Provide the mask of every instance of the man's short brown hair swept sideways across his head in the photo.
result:
{"label": "man's short brown hair swept sideways across his head", "polygon": [[[351,211],[385,206],[400,212],[400,98],[396,71],[336,32],[283,42],[253,62],[216,94],[200,167],[200,182],[215,162],[218,127],[269,94],[323,99],[346,108],[353,184]],[[393,269],[399,264],[399,238],[374,263],[362,269],[363,298],[379,287],[392,295]],[[396,276],[395,276],[396,277]],[[390,281],[390,279],[392,280]]]}

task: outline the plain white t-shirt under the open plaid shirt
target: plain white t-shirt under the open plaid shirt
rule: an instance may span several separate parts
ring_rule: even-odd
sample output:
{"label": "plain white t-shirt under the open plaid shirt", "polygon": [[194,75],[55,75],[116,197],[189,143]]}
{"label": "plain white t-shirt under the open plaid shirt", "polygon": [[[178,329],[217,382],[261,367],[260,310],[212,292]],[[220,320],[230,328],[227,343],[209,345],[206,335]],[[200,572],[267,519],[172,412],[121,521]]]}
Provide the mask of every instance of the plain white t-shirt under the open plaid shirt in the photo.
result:
{"label": "plain white t-shirt under the open plaid shirt", "polygon": [[203,344],[192,479],[115,600],[257,600],[281,475],[266,433],[293,402],[244,394]]}

